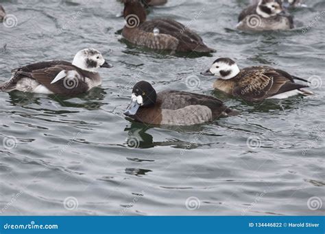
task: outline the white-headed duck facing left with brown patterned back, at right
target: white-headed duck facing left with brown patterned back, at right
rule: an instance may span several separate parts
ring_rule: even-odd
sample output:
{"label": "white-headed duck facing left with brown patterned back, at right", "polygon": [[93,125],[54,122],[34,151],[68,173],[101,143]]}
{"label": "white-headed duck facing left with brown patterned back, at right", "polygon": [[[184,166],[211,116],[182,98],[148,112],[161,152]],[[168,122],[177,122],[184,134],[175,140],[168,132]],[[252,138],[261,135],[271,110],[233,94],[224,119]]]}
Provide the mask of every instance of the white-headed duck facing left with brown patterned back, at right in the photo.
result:
{"label": "white-headed duck facing left with brown patterned back, at right", "polygon": [[[307,84],[309,81],[306,79],[270,66],[250,66],[239,69],[237,64],[228,57],[218,58],[201,74],[219,77],[213,84],[213,88],[245,101],[286,99],[298,94],[313,94],[303,89],[309,87]],[[296,83],[295,80],[304,81],[305,84]]]}

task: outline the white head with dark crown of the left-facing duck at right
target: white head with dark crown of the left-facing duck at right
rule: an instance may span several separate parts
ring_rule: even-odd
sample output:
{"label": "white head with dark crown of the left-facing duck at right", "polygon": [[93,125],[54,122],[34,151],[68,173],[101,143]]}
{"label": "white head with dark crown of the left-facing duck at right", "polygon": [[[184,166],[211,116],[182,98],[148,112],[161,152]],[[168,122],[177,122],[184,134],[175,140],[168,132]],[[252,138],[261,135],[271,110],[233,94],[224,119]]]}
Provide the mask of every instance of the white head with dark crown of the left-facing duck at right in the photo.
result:
{"label": "white head with dark crown of the left-facing duck at right", "polygon": [[232,79],[240,72],[237,64],[228,57],[220,57],[201,75],[214,75],[220,79]]}

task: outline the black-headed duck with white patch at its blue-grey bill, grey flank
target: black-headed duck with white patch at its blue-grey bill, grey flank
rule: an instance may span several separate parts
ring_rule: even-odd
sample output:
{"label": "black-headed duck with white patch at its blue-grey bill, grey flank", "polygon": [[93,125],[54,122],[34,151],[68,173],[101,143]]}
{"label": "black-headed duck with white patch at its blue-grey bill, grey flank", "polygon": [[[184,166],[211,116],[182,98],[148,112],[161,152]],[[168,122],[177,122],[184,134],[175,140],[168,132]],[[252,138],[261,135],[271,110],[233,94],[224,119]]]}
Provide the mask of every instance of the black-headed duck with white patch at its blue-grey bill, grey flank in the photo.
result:
{"label": "black-headed duck with white patch at its blue-grey bill, grey flank", "polygon": [[151,125],[197,125],[239,113],[213,96],[177,90],[156,93],[150,83],[139,81],[124,114]]}

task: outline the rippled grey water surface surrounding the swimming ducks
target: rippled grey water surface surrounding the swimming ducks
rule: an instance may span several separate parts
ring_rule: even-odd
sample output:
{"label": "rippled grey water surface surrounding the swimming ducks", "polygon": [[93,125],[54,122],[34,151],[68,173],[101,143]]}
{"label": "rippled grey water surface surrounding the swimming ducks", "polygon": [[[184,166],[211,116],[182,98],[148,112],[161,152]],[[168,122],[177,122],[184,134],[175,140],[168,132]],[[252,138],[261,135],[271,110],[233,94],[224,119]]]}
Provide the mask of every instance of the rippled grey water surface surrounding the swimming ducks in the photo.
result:
{"label": "rippled grey water surface surrounding the swimming ducks", "polygon": [[[0,93],[1,142],[13,143],[0,146],[3,214],[324,212],[325,16],[320,12],[325,1],[306,1],[308,8],[294,12],[299,29],[272,34],[234,30],[247,1],[170,0],[149,10],[149,18],[166,16],[198,31],[217,49],[210,57],[127,44],[121,38],[123,18],[116,17],[121,3],[87,2],[1,1],[18,24],[0,25],[0,81],[12,68],[71,61],[86,47],[99,49],[115,65],[100,71],[101,88],[74,98]],[[200,76],[215,57],[232,57],[240,67],[267,64],[312,77],[315,95],[259,104],[232,99],[213,91],[213,78]],[[186,86],[191,75],[200,86]],[[142,79],[156,90],[218,96],[242,114],[195,127],[132,122],[123,110],[134,81]]]}

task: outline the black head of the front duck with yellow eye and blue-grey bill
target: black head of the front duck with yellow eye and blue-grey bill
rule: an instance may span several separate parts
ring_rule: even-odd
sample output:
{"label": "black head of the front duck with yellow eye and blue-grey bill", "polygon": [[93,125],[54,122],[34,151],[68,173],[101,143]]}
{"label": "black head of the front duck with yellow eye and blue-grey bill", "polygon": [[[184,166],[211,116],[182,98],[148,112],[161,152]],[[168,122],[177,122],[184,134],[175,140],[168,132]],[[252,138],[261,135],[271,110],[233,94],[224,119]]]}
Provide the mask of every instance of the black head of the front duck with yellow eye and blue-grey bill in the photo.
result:
{"label": "black head of the front duck with yellow eye and blue-grey bill", "polygon": [[151,107],[156,103],[156,90],[147,81],[139,81],[132,90],[131,103],[125,110],[125,116],[134,116],[140,107]]}

